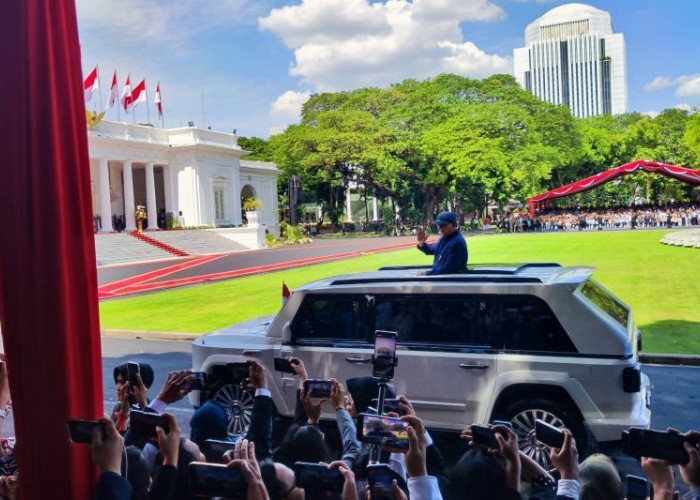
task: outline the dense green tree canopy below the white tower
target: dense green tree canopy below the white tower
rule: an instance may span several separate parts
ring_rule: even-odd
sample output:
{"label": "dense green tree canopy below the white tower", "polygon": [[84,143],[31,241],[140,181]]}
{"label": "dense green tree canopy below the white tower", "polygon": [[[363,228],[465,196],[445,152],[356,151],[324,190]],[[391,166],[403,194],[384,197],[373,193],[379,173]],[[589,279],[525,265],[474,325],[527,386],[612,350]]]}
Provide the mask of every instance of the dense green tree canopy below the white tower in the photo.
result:
{"label": "dense green tree canopy below the white tower", "polygon": [[[483,211],[489,204],[523,203],[637,158],[697,166],[698,116],[669,109],[653,119],[639,113],[577,119],[509,75],[439,75],[313,95],[298,125],[269,142],[240,143],[256,159],[277,163],[283,190],[288,177],[298,175],[333,222],[348,186],[430,219],[447,206]],[[624,182],[636,192],[639,180]],[[669,182],[648,181],[647,195],[668,191]],[[676,199],[691,192],[674,190]],[[606,196],[603,190],[595,201],[605,203]]]}

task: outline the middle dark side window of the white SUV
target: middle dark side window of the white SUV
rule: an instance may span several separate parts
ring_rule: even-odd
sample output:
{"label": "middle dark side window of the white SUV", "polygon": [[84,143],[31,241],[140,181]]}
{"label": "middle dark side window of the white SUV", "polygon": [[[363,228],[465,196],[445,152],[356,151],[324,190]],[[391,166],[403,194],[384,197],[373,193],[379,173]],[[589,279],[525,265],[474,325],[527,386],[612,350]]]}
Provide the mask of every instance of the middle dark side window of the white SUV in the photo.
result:
{"label": "middle dark side window of the white SUV", "polygon": [[398,333],[399,343],[488,346],[492,304],[476,295],[375,297],[375,328]]}

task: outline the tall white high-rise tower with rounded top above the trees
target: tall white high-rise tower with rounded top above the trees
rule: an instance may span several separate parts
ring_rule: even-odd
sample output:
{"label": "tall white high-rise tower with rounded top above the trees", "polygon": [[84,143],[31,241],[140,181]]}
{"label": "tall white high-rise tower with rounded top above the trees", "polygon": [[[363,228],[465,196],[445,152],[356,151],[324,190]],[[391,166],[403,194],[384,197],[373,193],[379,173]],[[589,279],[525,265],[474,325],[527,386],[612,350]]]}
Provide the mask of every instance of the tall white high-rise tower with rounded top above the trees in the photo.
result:
{"label": "tall white high-rise tower with rounded top above the trees", "polygon": [[625,37],[613,33],[610,13],[555,7],[528,24],[525,47],[513,52],[516,80],[540,99],[577,117],[627,111]]}

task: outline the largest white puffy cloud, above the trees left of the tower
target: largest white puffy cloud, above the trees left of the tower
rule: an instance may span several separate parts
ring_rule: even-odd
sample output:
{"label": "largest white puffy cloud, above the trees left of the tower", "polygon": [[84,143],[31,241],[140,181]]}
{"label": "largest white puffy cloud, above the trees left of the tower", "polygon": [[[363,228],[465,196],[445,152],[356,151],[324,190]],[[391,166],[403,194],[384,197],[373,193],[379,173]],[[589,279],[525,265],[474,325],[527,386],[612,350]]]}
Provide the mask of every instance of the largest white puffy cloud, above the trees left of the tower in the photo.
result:
{"label": "largest white puffy cloud, above the trees left of the tower", "polygon": [[259,26],[294,50],[291,75],[326,92],[445,72],[510,73],[510,57],[485,53],[460,29],[504,17],[490,0],[302,0],[273,9]]}

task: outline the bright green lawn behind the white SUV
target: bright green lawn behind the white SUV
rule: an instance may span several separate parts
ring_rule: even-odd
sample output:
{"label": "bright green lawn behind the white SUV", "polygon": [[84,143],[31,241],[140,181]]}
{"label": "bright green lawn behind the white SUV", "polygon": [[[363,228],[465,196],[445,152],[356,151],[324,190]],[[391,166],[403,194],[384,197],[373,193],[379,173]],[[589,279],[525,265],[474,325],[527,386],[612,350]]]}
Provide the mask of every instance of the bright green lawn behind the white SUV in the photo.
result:
{"label": "bright green lawn behind the white SUV", "polygon": [[[667,231],[514,234],[468,237],[471,262],[590,265],[595,278],[631,305],[646,352],[700,354],[700,250],[662,245]],[[265,275],[103,301],[102,328],[208,332],[280,307],[290,288],[383,265],[429,264],[414,249],[366,254]]]}

